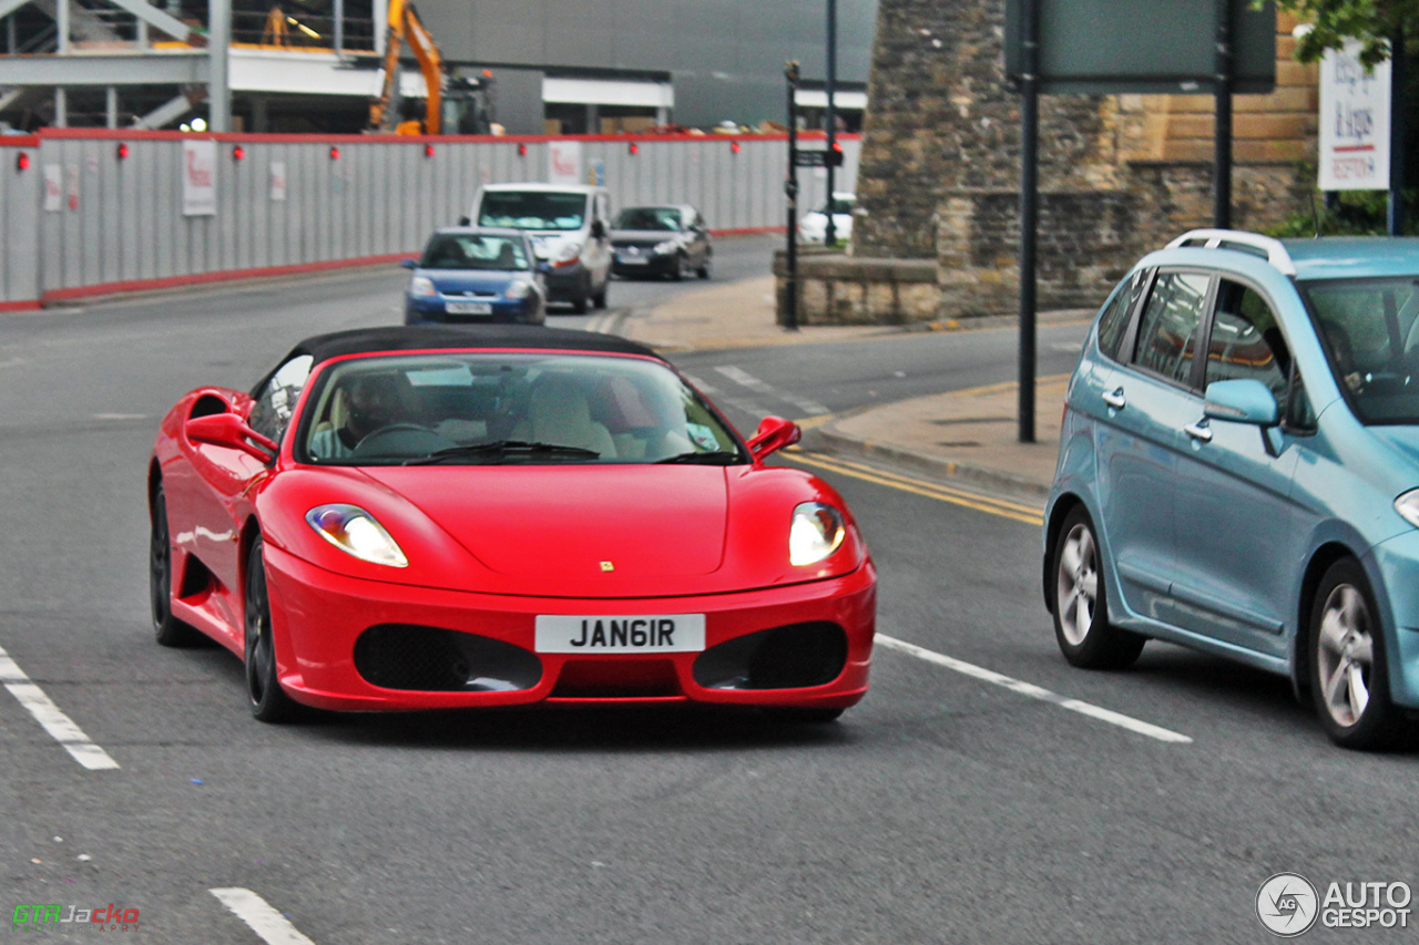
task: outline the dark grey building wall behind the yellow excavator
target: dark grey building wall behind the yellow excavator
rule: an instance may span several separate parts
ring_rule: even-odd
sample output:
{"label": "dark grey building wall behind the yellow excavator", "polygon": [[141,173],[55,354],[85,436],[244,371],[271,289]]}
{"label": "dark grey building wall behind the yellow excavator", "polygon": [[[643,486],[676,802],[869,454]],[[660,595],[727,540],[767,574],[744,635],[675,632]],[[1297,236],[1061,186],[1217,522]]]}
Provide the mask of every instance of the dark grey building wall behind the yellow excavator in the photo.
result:
{"label": "dark grey building wall behind the yellow excavator", "polygon": [[[783,121],[783,64],[826,75],[824,0],[420,0],[419,16],[455,62],[670,75],[681,125]],[[877,0],[837,0],[840,82],[867,81],[876,21]]]}

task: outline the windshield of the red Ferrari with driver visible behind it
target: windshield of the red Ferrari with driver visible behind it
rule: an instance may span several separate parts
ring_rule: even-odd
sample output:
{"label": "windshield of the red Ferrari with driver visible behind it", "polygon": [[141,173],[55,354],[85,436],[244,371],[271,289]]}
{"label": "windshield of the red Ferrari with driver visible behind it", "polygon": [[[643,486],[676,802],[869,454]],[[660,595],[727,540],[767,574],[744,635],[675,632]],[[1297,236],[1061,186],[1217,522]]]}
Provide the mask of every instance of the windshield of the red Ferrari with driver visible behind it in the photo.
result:
{"label": "windshield of the red Ferrari with driver visible behind it", "polygon": [[308,403],[297,446],[302,463],[749,461],[675,372],[641,358],[556,352],[358,358],[322,372]]}

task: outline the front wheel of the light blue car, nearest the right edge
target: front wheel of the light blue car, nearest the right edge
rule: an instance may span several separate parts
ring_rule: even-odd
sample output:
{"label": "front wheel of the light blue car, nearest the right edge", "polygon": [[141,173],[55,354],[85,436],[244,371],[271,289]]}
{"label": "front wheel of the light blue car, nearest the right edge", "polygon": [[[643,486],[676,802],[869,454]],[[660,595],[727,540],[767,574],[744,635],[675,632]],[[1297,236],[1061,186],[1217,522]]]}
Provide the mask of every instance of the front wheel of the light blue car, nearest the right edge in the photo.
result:
{"label": "front wheel of the light blue car, nearest the right edge", "polygon": [[1384,748],[1398,735],[1379,609],[1352,558],[1330,566],[1310,621],[1311,692],[1321,728],[1344,748]]}

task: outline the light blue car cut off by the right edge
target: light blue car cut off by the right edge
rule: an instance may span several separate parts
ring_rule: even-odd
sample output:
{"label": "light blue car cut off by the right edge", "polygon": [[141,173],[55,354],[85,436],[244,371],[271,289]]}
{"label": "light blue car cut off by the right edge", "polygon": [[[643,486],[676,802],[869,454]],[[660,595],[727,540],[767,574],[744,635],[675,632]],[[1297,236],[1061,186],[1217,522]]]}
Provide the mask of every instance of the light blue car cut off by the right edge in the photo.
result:
{"label": "light blue car cut off by the right edge", "polygon": [[1419,240],[1196,230],[1069,385],[1044,597],[1066,658],[1148,639],[1288,675],[1325,732],[1419,708]]}

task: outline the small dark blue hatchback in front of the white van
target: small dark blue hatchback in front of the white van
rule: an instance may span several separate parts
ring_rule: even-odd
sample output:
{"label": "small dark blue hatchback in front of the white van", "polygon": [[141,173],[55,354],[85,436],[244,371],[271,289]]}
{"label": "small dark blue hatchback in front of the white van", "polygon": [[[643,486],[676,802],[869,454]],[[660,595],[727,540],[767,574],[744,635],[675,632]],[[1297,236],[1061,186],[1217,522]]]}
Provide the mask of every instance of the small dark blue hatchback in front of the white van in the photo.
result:
{"label": "small dark blue hatchback in front of the white van", "polygon": [[446,227],[429,238],[404,292],[404,322],[546,321],[546,289],[521,230]]}

